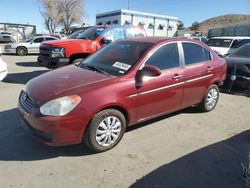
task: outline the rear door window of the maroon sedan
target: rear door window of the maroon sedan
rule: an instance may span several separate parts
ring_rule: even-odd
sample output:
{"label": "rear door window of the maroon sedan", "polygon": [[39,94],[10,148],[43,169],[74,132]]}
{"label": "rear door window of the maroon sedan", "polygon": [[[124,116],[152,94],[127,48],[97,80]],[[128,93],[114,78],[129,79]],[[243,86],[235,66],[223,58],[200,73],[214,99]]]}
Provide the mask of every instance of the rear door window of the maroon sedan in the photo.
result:
{"label": "rear door window of the maroon sedan", "polygon": [[200,63],[204,61],[211,61],[210,52],[195,43],[183,42],[184,60],[186,65]]}

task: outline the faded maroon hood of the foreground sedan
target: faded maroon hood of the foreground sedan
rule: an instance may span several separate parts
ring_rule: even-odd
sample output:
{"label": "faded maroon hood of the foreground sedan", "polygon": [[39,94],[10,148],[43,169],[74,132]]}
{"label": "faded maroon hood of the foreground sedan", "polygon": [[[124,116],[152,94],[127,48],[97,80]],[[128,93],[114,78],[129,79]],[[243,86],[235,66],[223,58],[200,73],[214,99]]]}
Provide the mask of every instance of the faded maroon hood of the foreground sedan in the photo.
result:
{"label": "faded maroon hood of the foreground sedan", "polygon": [[[75,65],[69,65],[49,71],[30,80],[25,90],[39,104],[44,100],[68,95],[68,91],[70,91],[69,95],[79,94],[77,93],[77,89],[81,89],[81,92],[83,92],[93,86],[93,84],[112,78],[111,76],[82,69]],[[71,92],[72,90],[76,93]]]}

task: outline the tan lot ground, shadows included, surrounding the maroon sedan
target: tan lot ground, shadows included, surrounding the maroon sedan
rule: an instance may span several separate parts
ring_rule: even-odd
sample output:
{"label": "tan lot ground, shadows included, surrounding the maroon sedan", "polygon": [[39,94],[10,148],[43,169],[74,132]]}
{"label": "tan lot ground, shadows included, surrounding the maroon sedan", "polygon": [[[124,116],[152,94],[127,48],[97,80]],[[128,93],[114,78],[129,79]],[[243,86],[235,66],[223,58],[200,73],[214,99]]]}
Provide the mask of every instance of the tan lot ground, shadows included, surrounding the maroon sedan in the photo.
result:
{"label": "tan lot ground, shadows included, surrounding the maroon sedan", "polygon": [[217,108],[195,108],[136,125],[114,149],[48,147],[27,135],[16,109],[20,90],[48,70],[36,56],[7,56],[0,83],[0,187],[246,187],[250,98],[221,94]]}

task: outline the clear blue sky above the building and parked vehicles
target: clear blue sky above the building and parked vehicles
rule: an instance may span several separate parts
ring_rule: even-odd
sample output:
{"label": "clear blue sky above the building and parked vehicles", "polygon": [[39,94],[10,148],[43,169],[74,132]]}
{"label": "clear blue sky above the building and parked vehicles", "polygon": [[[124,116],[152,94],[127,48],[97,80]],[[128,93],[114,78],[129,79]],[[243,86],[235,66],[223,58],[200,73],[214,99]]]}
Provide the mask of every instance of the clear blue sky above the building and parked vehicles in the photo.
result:
{"label": "clear blue sky above the building and parked vehicles", "polygon": [[[250,0],[130,0],[131,9],[176,16],[190,26],[225,14],[250,14]],[[84,22],[95,23],[96,13],[126,9],[128,0],[86,0]],[[37,0],[1,0],[0,22],[33,24],[38,32],[46,32]]]}

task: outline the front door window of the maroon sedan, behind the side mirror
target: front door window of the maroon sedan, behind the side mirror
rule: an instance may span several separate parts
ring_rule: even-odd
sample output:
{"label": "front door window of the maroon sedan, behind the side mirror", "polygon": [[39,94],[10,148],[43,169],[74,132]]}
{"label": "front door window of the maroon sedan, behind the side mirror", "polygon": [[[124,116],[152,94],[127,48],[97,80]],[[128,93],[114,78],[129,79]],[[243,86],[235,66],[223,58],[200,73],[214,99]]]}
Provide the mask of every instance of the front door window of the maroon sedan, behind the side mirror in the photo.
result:
{"label": "front door window of the maroon sedan, behind the side mirror", "polygon": [[160,47],[147,60],[146,65],[154,65],[160,70],[179,67],[179,51],[177,43],[171,43]]}

